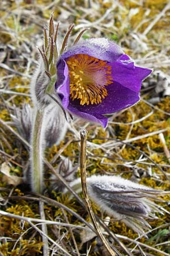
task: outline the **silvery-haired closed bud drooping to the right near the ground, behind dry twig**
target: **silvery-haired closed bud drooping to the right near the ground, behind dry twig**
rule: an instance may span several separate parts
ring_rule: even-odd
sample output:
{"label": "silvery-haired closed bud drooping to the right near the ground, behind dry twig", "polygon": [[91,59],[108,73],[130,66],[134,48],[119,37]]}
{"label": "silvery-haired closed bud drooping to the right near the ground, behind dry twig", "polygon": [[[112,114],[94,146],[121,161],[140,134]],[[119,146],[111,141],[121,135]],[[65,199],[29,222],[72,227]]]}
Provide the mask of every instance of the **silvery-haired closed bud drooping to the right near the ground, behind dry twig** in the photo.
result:
{"label": "silvery-haired closed bud drooping to the right near the ground, behind dry twig", "polygon": [[[70,186],[80,192],[80,179],[73,181]],[[124,222],[138,234],[150,229],[145,218],[156,218],[158,205],[149,198],[155,199],[160,190],[134,183],[120,176],[92,175],[87,178],[90,198],[100,209]]]}

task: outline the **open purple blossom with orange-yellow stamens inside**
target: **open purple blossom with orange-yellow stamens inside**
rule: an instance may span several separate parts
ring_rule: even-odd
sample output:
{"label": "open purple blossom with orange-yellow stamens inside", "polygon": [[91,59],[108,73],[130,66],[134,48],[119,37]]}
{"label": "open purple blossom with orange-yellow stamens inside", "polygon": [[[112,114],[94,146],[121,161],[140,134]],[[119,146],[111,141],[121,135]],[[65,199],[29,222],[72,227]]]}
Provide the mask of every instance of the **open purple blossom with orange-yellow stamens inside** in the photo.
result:
{"label": "open purple blossom with orange-yellow stamens inside", "polygon": [[136,67],[117,44],[88,39],[59,57],[56,92],[64,109],[106,127],[104,114],[138,102],[142,80],[150,73],[151,69]]}

